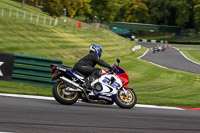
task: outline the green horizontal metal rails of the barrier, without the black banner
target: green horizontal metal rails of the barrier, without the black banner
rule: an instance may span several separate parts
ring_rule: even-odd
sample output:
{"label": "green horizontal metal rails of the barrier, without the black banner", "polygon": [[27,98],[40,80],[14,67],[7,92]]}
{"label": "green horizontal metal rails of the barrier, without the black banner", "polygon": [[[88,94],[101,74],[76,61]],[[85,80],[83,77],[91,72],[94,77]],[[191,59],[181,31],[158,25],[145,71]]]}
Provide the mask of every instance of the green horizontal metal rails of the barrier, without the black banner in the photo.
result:
{"label": "green horizontal metal rails of the barrier, without the black banner", "polygon": [[51,64],[62,64],[60,59],[14,54],[12,81],[52,87]]}

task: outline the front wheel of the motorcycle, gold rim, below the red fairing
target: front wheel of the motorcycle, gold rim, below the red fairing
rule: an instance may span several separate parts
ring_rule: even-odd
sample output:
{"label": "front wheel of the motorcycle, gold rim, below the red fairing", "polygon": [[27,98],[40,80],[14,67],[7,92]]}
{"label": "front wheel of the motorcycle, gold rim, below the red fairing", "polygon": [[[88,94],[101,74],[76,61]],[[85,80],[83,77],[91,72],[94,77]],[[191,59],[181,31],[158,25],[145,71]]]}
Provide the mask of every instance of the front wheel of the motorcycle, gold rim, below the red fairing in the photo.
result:
{"label": "front wheel of the motorcycle, gold rim, below the red fairing", "polygon": [[121,108],[131,109],[137,102],[136,94],[131,88],[124,88],[124,90],[127,95],[123,89],[119,89],[115,97],[115,103]]}

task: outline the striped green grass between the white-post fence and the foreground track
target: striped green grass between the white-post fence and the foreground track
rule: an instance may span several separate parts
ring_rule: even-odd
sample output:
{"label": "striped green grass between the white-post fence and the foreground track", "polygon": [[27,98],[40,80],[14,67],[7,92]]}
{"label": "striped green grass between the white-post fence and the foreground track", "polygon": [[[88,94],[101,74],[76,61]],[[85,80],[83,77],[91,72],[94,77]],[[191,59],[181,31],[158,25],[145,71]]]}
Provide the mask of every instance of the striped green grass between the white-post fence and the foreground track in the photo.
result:
{"label": "striped green grass between the white-post fence and the foreground track", "polygon": [[[136,43],[108,30],[74,30],[0,17],[1,52],[59,58],[73,66],[88,53],[92,43],[102,45],[102,59],[109,64],[117,57],[121,59],[120,66],[129,74],[138,103],[200,107],[199,74],[164,69],[137,59],[146,48],[132,52]],[[6,81],[0,81],[0,92],[52,96],[51,88]]]}

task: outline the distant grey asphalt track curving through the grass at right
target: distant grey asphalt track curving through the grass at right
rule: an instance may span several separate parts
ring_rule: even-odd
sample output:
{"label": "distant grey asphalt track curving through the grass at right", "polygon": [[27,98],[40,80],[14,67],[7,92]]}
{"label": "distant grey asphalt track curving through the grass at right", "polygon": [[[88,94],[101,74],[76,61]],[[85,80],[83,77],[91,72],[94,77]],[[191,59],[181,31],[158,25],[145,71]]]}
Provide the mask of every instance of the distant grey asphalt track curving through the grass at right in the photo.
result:
{"label": "distant grey asphalt track curving through the grass at right", "polygon": [[[138,43],[147,48],[155,48],[158,44],[153,43]],[[199,48],[200,47],[191,47],[191,46],[176,46],[176,47],[189,47],[189,48]],[[152,62],[166,68],[181,70],[185,72],[197,73],[200,74],[200,64],[194,63],[186,57],[184,57],[181,52],[176,48],[167,47],[164,52],[148,51],[141,59],[148,62]]]}

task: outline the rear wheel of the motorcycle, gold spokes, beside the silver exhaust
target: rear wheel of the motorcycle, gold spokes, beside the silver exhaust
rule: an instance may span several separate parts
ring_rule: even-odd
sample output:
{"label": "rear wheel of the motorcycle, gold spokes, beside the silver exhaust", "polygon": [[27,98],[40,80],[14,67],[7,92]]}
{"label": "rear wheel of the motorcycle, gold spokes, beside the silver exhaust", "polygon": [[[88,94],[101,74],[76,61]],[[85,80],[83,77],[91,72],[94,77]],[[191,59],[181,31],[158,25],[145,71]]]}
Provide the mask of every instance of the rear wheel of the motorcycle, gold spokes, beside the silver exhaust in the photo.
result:
{"label": "rear wheel of the motorcycle, gold spokes, beside the silver exhaust", "polygon": [[62,81],[58,81],[54,84],[52,92],[57,102],[71,105],[78,100],[79,93],[77,91],[68,91],[68,88],[70,88],[70,86]]}

